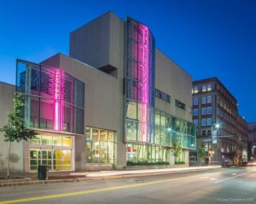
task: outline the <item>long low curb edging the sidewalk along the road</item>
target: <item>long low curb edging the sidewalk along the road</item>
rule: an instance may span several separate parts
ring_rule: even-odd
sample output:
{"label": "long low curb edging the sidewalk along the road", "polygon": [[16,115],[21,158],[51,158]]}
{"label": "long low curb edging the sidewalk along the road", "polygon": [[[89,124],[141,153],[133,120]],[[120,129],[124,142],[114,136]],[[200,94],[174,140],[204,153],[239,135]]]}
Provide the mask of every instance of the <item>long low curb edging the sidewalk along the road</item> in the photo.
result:
{"label": "long low curb edging the sidewalk along the road", "polygon": [[[208,168],[207,170],[212,170],[216,168]],[[194,169],[189,171],[180,171],[180,172],[162,172],[162,173],[138,173],[138,174],[123,174],[116,176],[103,176],[103,177],[90,177],[90,178],[63,178],[63,179],[52,179],[52,180],[32,180],[32,181],[23,181],[23,182],[9,182],[2,183],[0,187],[11,187],[11,186],[20,186],[20,185],[28,185],[28,184],[57,184],[57,183],[67,183],[67,182],[81,182],[86,180],[107,180],[107,179],[116,179],[116,178],[132,178],[132,177],[143,177],[143,176],[157,176],[164,174],[172,174],[172,173],[185,173],[185,172],[198,172],[204,171],[206,169]]]}

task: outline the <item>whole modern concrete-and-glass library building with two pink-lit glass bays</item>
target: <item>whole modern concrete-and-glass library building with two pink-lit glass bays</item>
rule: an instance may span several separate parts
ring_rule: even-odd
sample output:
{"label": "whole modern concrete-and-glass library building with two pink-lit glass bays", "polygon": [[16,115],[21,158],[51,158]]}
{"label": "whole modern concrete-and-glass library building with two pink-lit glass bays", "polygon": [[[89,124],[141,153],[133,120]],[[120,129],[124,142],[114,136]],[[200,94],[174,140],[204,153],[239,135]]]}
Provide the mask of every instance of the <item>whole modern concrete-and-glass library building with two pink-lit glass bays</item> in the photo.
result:
{"label": "whole modern concrete-and-glass library building with two pink-lit glass bays", "polygon": [[[189,165],[196,149],[191,89],[189,74],[155,48],[148,26],[102,14],[71,32],[69,56],[17,59],[15,86],[0,82],[0,127],[20,93],[26,128],[37,133],[12,144],[11,170]],[[174,157],[177,144],[182,153]],[[5,171],[3,133],[0,147]]]}

